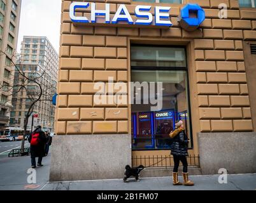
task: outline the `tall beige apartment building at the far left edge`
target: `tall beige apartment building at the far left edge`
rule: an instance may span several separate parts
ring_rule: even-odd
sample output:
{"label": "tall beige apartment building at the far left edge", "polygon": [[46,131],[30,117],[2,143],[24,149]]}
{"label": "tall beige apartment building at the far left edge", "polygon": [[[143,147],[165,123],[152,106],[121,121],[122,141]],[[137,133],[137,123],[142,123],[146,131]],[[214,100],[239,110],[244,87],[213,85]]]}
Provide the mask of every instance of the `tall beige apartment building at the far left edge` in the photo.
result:
{"label": "tall beige apartment building at the far left edge", "polygon": [[[12,85],[10,58],[17,49],[18,27],[20,23],[21,0],[0,0],[0,84]],[[11,94],[0,89],[0,127],[8,126],[10,121]]]}

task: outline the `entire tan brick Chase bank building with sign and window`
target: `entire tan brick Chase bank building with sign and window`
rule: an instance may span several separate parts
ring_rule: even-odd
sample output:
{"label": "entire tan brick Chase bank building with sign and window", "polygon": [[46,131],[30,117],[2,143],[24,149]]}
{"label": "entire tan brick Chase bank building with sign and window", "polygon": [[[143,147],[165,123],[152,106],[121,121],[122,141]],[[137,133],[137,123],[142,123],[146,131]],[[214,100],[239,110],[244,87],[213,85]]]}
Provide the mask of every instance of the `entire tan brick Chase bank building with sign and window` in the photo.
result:
{"label": "entire tan brick Chase bank building with sign and window", "polygon": [[[201,173],[256,172],[255,1],[65,0],[61,19],[51,181],[122,178],[126,164],[158,163],[180,120]],[[145,173],[161,176],[171,159],[157,166]]]}

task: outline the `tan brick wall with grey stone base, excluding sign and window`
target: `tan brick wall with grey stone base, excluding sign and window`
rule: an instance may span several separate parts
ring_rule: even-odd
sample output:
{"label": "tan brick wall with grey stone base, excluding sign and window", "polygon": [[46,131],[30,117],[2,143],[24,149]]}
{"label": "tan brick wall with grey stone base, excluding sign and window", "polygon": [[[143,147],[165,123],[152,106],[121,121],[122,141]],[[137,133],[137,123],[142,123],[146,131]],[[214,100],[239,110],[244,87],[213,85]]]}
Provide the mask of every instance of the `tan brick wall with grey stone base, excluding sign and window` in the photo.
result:
{"label": "tan brick wall with grey stone base, excluding sign and window", "polygon": [[[108,82],[108,77],[113,77],[114,83],[131,81],[134,44],[185,49],[189,133],[193,140],[189,152],[199,154],[202,173],[218,173],[221,167],[231,173],[255,172],[252,143],[256,139],[256,74],[251,50],[256,44],[255,8],[239,8],[235,0],[185,0],[182,4],[93,2],[99,10],[110,3],[111,17],[119,4],[125,4],[132,19],[136,5],[170,6],[173,26],[136,27],[123,22],[114,26],[80,25],[69,17],[72,1],[62,1],[57,136],[50,180],[120,178],[124,166],[133,164],[136,155],[169,155],[169,150],[132,148],[132,105],[97,105],[94,101],[95,82]],[[188,3],[199,4],[206,15],[193,32],[179,24],[180,11]],[[227,18],[221,19],[223,10],[219,5],[223,3]],[[90,7],[84,15],[82,10],[76,15],[89,16],[89,12]],[[129,89],[125,92],[128,95]],[[122,97],[128,100],[127,95]],[[244,164],[248,167],[240,167]]]}

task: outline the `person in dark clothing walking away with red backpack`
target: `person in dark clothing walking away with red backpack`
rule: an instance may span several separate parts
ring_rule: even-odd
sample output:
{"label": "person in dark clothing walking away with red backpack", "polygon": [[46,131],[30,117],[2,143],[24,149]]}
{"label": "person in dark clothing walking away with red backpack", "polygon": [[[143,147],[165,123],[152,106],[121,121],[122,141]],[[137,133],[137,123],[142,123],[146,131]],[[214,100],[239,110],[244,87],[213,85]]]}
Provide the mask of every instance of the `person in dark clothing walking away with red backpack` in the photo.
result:
{"label": "person in dark clothing walking away with red backpack", "polygon": [[30,151],[31,151],[31,166],[36,167],[36,157],[38,157],[38,166],[43,166],[42,159],[45,157],[46,137],[42,131],[41,126],[36,129],[29,136]]}

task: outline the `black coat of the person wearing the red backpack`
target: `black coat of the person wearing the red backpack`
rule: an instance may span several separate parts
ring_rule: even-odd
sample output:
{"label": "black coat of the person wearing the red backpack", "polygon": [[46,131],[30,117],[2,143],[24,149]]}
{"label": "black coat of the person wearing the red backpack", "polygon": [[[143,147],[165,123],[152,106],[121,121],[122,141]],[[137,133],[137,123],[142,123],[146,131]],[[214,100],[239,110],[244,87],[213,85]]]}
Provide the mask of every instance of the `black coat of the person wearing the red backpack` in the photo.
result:
{"label": "black coat of the person wearing the red backpack", "polygon": [[[34,157],[45,157],[45,144],[46,144],[46,136],[45,133],[41,130],[41,128],[37,128],[33,133],[39,133],[39,143],[38,145],[31,145],[31,158]],[[29,143],[31,143],[32,134],[29,136]]]}

